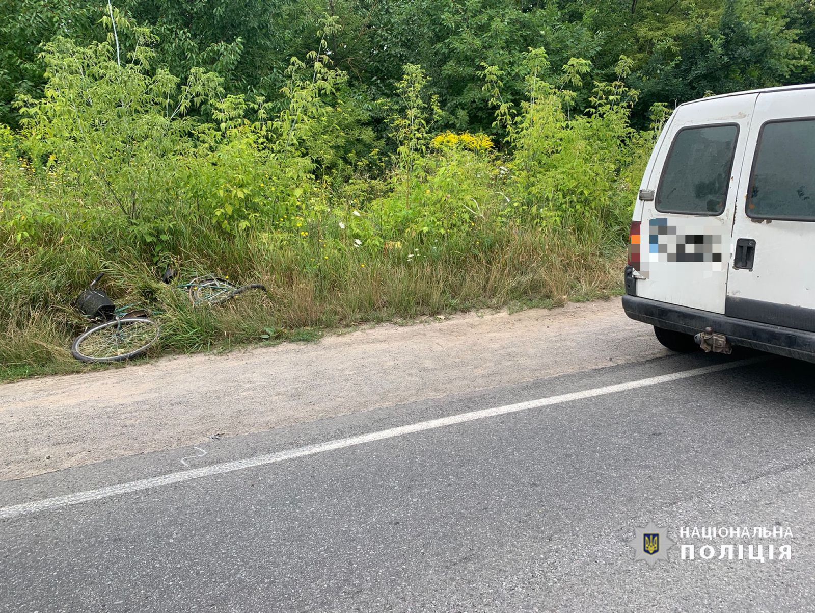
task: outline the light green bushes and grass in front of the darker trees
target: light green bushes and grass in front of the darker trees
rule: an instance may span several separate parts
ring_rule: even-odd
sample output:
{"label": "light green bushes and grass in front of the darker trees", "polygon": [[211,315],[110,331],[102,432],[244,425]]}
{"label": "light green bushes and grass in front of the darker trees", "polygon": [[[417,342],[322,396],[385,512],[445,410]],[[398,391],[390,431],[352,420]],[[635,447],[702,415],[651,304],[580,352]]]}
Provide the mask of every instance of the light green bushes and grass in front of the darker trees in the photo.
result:
{"label": "light green bushes and grass in front of the darker trees", "polygon": [[[508,134],[497,144],[434,130],[428,79],[407,65],[382,153],[331,65],[335,27],[292,60],[277,109],[227,95],[214,73],[153,67],[152,33],[122,17],[129,53],[113,37],[46,45],[44,95],[20,97],[20,131],[0,130],[5,376],[82,367],[68,353],[86,326],[72,303],[98,271],[118,304],[162,313],[165,353],[618,291],[624,218],[654,138],[629,126],[624,60],[577,114],[566,85],[582,86],[582,60],[551,84],[544,51],[530,51],[518,109],[485,68]],[[166,265],[263,282],[269,295],[194,309],[159,281]]]}

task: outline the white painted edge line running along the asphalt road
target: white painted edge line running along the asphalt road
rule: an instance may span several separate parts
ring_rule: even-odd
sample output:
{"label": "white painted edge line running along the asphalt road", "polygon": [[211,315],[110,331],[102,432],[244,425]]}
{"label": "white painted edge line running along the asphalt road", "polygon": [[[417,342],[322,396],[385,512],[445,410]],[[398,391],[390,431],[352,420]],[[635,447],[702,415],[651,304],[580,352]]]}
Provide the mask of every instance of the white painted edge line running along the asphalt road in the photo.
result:
{"label": "white painted edge line running along the asphalt road", "polygon": [[416,424],[379,430],[378,432],[368,434],[360,434],[359,436],[355,437],[338,438],[334,441],[320,442],[315,445],[297,447],[296,449],[289,449],[286,451],[278,451],[277,453],[256,455],[252,458],[246,458],[245,460],[235,460],[232,462],[223,462],[222,464],[212,464],[211,466],[204,466],[200,469],[183,470],[178,473],[161,475],[161,477],[139,479],[139,481],[120,483],[119,485],[115,486],[99,487],[99,489],[96,490],[80,491],[76,494],[54,496],[53,498],[34,500],[33,502],[26,502],[23,504],[14,504],[12,506],[0,508],[0,519],[9,519],[11,517],[19,517],[20,515],[27,515],[29,513],[39,513],[40,511],[46,511],[47,509],[54,509],[56,507],[64,507],[71,504],[81,504],[83,502],[101,500],[103,498],[110,498],[111,496],[147,490],[152,487],[169,486],[173,483],[191,481],[192,479],[213,477],[214,475],[224,473],[233,473],[236,470],[253,469],[256,466],[275,464],[275,462],[284,462],[285,460],[302,458],[306,455],[315,455],[318,453],[324,453],[325,451],[344,449],[346,447],[363,445],[367,442],[382,441],[386,438],[401,437],[405,434],[443,428],[445,426],[454,424],[464,424],[468,421],[483,420],[487,417],[495,417],[496,415],[507,415],[508,413],[518,413],[518,411],[529,411],[530,409],[537,409],[541,406],[552,406],[555,404],[562,404],[563,402],[573,402],[575,400],[606,396],[610,393],[626,392],[630,389],[645,388],[650,385],[658,385],[661,383],[667,383],[669,381],[688,379],[689,377],[697,377],[699,375],[708,375],[712,372],[729,371],[733,368],[750,366],[758,362],[765,362],[767,359],[769,358],[751,358],[738,362],[716,364],[715,366],[703,366],[701,368],[694,368],[689,371],[672,372],[668,375],[658,375],[655,377],[648,377],[647,379],[628,381],[626,383],[604,385],[601,388],[586,389],[582,392],[562,393],[557,396],[549,396],[548,398],[540,398],[538,400],[518,402],[516,404],[509,404],[506,406],[495,406],[491,409],[482,409],[480,411],[469,411],[467,413],[459,413],[458,415],[440,417],[436,420],[420,421]]}

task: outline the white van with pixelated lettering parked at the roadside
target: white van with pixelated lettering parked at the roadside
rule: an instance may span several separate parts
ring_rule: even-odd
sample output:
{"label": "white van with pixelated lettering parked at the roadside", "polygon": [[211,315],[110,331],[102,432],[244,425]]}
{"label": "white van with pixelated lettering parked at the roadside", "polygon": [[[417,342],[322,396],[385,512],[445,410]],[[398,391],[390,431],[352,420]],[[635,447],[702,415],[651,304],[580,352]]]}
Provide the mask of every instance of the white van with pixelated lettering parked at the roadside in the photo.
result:
{"label": "white van with pixelated lettering parked at the roadside", "polygon": [[815,362],[815,85],[681,104],[642,179],[623,308],[668,349]]}

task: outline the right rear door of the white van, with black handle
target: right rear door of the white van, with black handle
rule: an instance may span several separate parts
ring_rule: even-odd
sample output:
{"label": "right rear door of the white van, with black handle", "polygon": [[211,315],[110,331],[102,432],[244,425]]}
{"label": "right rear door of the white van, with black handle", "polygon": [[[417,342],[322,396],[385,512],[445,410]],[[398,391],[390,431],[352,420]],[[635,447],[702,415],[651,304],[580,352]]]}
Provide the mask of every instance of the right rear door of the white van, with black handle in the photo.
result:
{"label": "right rear door of the white van, with black handle", "polygon": [[756,101],[725,314],[815,331],[815,89]]}

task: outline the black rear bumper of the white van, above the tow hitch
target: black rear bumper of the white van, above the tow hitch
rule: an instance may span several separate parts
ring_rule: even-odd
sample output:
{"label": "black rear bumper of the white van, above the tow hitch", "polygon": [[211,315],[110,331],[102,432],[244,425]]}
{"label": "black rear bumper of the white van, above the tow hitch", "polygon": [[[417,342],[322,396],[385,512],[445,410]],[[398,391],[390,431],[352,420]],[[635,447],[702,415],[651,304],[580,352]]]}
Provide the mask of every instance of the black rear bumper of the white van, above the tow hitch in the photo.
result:
{"label": "black rear bumper of the white van, above the tow hitch", "polygon": [[691,335],[710,326],[731,344],[815,362],[815,332],[751,322],[634,295],[623,296],[623,309],[629,318],[652,326]]}

